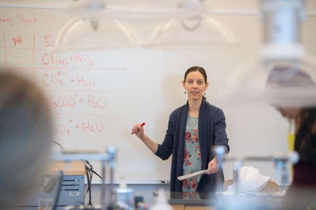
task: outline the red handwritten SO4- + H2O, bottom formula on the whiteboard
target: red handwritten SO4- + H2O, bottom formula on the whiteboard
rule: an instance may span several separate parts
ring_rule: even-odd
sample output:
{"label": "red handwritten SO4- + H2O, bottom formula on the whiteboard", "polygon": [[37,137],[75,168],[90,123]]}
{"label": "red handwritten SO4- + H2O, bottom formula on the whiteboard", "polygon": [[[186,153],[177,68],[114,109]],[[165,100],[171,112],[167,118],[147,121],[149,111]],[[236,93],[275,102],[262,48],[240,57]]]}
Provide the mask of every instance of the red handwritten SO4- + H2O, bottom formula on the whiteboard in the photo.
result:
{"label": "red handwritten SO4- + H2O, bottom formula on the whiteboard", "polygon": [[85,122],[74,122],[74,120],[68,120],[68,123],[53,124],[53,133],[66,134],[70,136],[74,131],[79,131],[82,134],[89,133],[101,133],[103,131],[102,122],[90,122],[89,120]]}

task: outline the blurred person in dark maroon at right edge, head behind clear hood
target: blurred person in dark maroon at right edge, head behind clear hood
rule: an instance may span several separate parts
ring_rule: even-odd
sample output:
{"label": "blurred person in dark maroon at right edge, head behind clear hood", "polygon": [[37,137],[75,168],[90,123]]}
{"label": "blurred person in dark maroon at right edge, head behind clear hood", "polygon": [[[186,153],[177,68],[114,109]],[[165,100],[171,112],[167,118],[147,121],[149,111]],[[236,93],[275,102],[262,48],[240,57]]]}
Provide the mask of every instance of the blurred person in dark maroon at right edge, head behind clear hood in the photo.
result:
{"label": "blurred person in dark maroon at right edge, head behind clear hood", "polygon": [[[303,70],[289,74],[288,69],[288,66],[274,68],[269,75],[267,87],[270,90],[302,90],[302,94],[303,91],[315,90],[316,85],[309,74]],[[283,117],[295,122],[294,150],[300,156],[299,162],[293,166],[293,180],[284,199],[286,210],[316,208],[316,107],[315,104],[314,107],[299,107],[298,100],[293,94],[288,104],[276,107]]]}

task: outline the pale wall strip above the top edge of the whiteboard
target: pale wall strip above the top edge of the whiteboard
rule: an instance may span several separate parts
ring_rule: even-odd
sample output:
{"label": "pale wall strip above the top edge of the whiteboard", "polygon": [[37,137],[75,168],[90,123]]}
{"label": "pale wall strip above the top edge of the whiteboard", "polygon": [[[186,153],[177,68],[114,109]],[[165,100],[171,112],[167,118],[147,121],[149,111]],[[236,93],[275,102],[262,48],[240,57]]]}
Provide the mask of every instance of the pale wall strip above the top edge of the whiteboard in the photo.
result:
{"label": "pale wall strip above the top edge of the whiteboard", "polygon": [[[86,0],[0,0],[0,6],[68,9]],[[96,0],[98,1],[98,0]],[[105,1],[105,0],[101,0]],[[113,10],[146,12],[176,8],[182,0],[106,0]],[[191,0],[193,1],[193,0]],[[316,16],[316,0],[306,0],[307,15]],[[204,0],[210,13],[259,14],[260,0]]]}

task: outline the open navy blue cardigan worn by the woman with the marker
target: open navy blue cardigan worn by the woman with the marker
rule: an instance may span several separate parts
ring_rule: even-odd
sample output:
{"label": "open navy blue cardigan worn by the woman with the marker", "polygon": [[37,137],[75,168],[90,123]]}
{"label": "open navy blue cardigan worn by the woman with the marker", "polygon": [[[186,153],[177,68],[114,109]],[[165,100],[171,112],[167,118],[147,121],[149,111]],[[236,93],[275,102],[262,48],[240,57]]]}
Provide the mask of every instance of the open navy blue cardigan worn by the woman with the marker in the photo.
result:
{"label": "open navy blue cardigan worn by the woman with the marker", "polygon": [[[177,177],[182,176],[183,158],[184,158],[184,137],[188,116],[187,104],[174,110],[169,117],[168,129],[161,145],[158,144],[156,155],[162,160],[166,160],[172,154],[171,172],[170,172],[170,191],[181,192],[182,181]],[[205,101],[201,102],[198,114],[198,139],[201,151],[202,169],[207,169],[209,161],[214,158],[212,153],[213,145],[226,146],[226,152],[229,152],[228,138],[226,134],[226,122],[223,111],[216,106]],[[221,182],[224,181],[223,171],[218,173]],[[202,175],[197,191],[212,192],[215,190],[216,176]]]}

